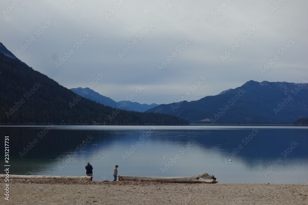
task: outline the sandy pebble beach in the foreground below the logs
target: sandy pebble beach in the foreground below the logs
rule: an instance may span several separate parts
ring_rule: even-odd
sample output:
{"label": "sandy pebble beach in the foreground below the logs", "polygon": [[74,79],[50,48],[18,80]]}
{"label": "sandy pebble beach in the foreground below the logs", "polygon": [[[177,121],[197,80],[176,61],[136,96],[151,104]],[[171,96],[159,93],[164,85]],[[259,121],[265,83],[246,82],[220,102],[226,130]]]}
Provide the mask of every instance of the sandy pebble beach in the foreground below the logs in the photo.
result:
{"label": "sandy pebble beach in the foreground below the logs", "polygon": [[304,184],[12,179],[9,187],[0,204],[308,204]]}

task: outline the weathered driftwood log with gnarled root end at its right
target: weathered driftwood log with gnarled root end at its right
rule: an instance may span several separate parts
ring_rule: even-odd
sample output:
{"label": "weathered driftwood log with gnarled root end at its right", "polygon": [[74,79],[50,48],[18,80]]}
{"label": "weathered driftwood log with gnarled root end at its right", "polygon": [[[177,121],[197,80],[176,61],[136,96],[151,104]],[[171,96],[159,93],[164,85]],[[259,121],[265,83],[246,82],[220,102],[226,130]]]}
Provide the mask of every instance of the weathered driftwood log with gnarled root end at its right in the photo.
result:
{"label": "weathered driftwood log with gnarled root end at its right", "polygon": [[119,176],[119,181],[140,180],[150,182],[173,182],[173,183],[217,183],[213,175],[201,173],[197,176],[187,177],[147,177],[147,176]]}

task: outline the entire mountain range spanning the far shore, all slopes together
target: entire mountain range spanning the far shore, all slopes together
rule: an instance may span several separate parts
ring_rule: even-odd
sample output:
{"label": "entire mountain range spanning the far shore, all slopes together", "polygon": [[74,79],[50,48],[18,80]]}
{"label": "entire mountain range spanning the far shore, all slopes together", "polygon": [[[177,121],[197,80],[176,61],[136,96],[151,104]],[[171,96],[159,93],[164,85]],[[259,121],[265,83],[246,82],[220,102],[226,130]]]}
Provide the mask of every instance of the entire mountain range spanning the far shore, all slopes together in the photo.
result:
{"label": "entire mountain range spanning the far shore, all slopes together", "polygon": [[2,124],[291,122],[308,116],[307,79],[302,83],[251,80],[238,88],[191,102],[115,102],[89,88],[69,90],[59,85],[20,61],[2,43],[0,86]]}

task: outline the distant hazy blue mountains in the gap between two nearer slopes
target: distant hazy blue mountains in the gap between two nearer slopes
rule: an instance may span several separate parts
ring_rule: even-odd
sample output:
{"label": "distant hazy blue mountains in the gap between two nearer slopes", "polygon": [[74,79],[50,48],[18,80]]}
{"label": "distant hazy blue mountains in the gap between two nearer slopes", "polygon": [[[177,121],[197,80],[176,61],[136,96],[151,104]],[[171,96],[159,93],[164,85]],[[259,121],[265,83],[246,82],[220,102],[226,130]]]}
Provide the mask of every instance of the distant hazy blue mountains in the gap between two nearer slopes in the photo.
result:
{"label": "distant hazy blue mountains in the gap between two nearer slopes", "polygon": [[108,105],[112,108],[121,108],[121,109],[129,110],[129,111],[145,112],[146,110],[154,108],[154,107],[159,105],[159,104],[155,104],[155,103],[140,104],[140,103],[131,102],[131,101],[115,102],[111,98],[105,97],[105,96],[95,92],[94,90],[92,90],[90,88],[79,87],[79,88],[72,88],[70,90],[73,91],[74,93],[78,94],[78,95],[83,95],[83,97],[85,97],[87,99],[99,102],[100,104]]}

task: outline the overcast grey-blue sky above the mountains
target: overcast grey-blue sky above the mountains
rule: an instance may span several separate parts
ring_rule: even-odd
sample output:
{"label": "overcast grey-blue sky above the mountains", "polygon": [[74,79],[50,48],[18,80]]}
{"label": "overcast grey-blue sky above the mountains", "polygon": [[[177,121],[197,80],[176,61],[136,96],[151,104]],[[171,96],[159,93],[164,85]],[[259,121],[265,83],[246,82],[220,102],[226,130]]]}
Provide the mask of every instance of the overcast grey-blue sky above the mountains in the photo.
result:
{"label": "overcast grey-blue sky above the mountains", "polygon": [[307,7],[306,0],[1,0],[0,42],[69,89],[168,104],[249,80],[301,83]]}

